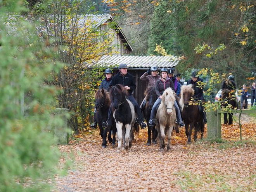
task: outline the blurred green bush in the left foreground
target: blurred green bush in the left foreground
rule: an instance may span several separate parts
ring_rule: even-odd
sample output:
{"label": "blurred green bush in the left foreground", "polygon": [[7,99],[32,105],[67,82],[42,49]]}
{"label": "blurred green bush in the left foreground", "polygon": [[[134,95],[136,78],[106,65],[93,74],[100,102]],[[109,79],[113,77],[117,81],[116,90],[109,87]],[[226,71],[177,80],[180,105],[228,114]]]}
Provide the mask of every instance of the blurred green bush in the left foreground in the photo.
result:
{"label": "blurred green bush in the left foreground", "polygon": [[17,20],[20,2],[0,2],[0,191],[49,191],[60,156],[49,129],[56,90],[42,82],[58,65],[42,59],[47,48],[35,41],[33,26]]}

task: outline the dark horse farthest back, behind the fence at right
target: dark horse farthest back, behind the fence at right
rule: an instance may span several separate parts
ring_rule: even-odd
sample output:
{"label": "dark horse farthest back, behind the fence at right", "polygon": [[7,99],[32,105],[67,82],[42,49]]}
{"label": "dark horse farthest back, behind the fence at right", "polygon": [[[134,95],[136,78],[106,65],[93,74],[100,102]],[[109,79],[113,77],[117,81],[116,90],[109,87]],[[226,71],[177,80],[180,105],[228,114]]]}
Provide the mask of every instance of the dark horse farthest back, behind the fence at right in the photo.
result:
{"label": "dark horse farthest back, behind the fence at right", "polygon": [[[235,97],[232,97],[231,94],[232,91],[229,91],[228,89],[222,90],[221,93],[221,107],[227,107],[230,106],[230,108],[235,109],[237,106]],[[224,124],[232,125],[233,124],[233,113],[223,113],[224,116]]]}

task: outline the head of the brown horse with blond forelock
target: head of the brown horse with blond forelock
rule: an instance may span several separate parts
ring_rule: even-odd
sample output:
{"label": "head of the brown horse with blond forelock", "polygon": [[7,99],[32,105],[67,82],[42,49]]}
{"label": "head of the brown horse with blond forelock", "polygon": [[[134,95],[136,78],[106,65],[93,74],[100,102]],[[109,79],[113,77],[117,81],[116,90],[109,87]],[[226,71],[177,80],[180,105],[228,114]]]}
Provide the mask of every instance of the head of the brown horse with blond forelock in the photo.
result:
{"label": "head of the brown horse with blond forelock", "polygon": [[188,107],[189,102],[191,101],[195,90],[193,89],[193,85],[182,85],[180,91],[180,106]]}

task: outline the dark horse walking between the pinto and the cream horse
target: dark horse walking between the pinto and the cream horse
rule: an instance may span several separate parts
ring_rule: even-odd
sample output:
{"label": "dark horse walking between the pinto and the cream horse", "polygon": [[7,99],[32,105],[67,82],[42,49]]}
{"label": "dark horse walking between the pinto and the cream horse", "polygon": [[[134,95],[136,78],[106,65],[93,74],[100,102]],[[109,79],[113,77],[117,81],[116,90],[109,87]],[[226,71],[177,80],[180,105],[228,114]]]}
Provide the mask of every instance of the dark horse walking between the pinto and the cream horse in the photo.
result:
{"label": "dark horse walking between the pinto and the cream horse", "polygon": [[147,144],[146,145],[151,145],[151,131],[152,131],[152,143],[157,144],[156,142],[156,137],[157,137],[157,131],[156,131],[156,126],[149,126],[149,119],[150,119],[150,113],[152,110],[152,107],[154,103],[157,100],[157,95],[156,95],[156,89],[154,86],[149,86],[144,92],[144,95],[146,97],[145,101],[145,107],[143,111],[143,115],[147,121],[147,134],[148,134],[148,139],[147,139]]}

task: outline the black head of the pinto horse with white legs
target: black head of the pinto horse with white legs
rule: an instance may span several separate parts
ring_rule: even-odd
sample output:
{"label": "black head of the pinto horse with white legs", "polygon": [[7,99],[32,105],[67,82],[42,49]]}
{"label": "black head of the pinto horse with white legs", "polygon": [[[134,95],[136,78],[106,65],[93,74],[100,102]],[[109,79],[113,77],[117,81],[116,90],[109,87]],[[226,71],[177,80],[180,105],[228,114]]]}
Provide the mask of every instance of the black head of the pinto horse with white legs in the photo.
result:
{"label": "black head of the pinto horse with white legs", "polygon": [[118,109],[119,106],[126,100],[126,96],[128,96],[127,90],[123,85],[117,84],[113,86],[110,90],[111,100],[113,103],[114,109]]}

